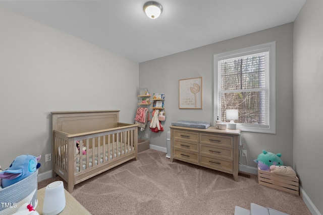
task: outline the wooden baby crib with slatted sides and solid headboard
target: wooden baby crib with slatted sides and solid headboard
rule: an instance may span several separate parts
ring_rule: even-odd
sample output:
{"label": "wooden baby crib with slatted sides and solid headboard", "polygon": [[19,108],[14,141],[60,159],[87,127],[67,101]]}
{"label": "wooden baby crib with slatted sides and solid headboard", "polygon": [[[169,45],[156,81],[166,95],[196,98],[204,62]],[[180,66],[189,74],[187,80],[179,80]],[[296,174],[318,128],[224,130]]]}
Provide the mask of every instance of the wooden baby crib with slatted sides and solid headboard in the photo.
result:
{"label": "wooden baby crib with slatted sides and solid headboard", "polygon": [[[52,176],[74,185],[137,160],[138,125],[119,122],[119,110],[51,112]],[[76,147],[80,146],[80,151]],[[82,146],[86,153],[82,153]]]}

